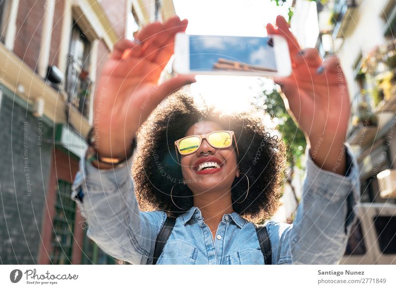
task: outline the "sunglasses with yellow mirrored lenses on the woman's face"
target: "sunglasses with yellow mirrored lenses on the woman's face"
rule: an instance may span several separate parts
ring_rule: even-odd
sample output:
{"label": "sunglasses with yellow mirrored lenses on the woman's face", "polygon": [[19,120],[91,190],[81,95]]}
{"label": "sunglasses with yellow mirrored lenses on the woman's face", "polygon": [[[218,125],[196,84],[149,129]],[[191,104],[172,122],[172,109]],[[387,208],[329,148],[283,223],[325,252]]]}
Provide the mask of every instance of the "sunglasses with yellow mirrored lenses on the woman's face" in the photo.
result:
{"label": "sunglasses with yellow mirrored lenses on the woman's face", "polygon": [[175,147],[182,156],[189,155],[198,151],[202,144],[202,139],[206,139],[210,146],[215,149],[230,147],[232,145],[232,140],[234,139],[237,155],[239,156],[237,140],[235,138],[235,133],[232,130],[218,130],[201,135],[186,136],[175,141]]}

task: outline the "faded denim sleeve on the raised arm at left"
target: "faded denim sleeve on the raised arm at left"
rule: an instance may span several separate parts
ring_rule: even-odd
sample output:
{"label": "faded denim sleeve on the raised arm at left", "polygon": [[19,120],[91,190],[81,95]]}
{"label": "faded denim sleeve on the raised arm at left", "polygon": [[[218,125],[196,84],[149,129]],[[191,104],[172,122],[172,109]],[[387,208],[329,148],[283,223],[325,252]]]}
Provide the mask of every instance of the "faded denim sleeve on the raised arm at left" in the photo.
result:
{"label": "faded denim sleeve on the raised arm at left", "polygon": [[88,237],[104,252],[132,264],[147,264],[166,214],[139,211],[131,167],[128,162],[113,170],[99,170],[82,160],[73,197],[88,223]]}

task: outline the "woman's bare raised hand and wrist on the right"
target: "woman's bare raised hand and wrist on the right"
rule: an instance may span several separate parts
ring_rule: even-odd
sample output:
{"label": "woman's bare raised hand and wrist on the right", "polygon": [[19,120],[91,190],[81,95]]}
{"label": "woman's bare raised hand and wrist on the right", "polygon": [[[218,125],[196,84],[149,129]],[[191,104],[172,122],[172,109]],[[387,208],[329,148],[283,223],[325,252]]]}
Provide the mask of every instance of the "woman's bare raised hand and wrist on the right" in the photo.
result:
{"label": "woman's bare raised hand and wrist on the right", "polygon": [[276,25],[267,24],[267,33],[288,41],[292,75],[274,81],[281,86],[291,113],[311,145],[314,162],[325,170],[345,174],[350,103],[340,61],[336,56],[322,60],[313,48],[301,51],[282,16],[277,17]]}

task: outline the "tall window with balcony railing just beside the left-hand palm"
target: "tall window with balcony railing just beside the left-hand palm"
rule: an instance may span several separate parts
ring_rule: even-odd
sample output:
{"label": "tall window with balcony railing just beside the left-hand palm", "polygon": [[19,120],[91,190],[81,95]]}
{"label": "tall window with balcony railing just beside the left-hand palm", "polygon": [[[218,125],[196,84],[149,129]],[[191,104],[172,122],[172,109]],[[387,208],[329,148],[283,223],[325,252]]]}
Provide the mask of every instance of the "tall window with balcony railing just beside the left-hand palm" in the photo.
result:
{"label": "tall window with balcony railing just beside the left-hand palm", "polygon": [[89,117],[91,79],[89,59],[91,43],[76,22],[73,22],[66,70],[66,92],[69,103]]}

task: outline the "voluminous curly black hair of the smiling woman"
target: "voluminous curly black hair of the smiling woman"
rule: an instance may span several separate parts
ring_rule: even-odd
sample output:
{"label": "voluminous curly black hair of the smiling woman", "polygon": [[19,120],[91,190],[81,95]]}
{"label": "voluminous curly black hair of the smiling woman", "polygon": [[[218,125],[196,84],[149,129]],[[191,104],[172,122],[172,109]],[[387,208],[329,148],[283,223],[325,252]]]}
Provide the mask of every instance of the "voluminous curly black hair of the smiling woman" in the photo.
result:
{"label": "voluminous curly black hair of the smiling woman", "polygon": [[[137,132],[132,173],[140,209],[162,210],[176,218],[194,205],[188,186],[175,185],[183,183],[183,175],[174,142],[202,120],[215,121],[235,132],[240,172],[247,174],[250,187],[246,200],[234,202],[233,210],[255,223],[271,217],[280,206],[283,190],[286,163],[283,141],[271,136],[257,111],[226,114],[203,102],[198,105],[181,90],[168,96]],[[177,206],[170,197],[172,187],[172,198]],[[236,178],[231,189],[233,200],[243,200],[246,190],[246,177]]]}

